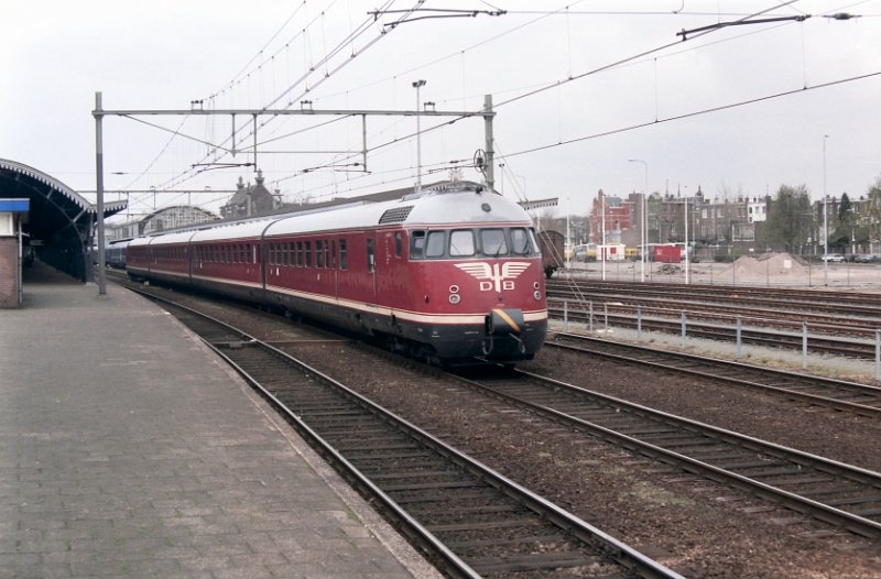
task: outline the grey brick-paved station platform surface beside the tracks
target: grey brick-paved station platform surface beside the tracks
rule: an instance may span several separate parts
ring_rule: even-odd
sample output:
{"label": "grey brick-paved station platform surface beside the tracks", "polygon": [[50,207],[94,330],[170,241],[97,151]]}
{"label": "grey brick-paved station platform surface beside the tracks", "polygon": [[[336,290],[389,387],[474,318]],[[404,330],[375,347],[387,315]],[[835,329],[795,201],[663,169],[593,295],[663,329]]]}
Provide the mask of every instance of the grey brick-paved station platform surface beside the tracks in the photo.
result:
{"label": "grey brick-paved station platform surface beside the tracks", "polygon": [[438,577],[170,315],[36,264],[0,310],[0,578]]}

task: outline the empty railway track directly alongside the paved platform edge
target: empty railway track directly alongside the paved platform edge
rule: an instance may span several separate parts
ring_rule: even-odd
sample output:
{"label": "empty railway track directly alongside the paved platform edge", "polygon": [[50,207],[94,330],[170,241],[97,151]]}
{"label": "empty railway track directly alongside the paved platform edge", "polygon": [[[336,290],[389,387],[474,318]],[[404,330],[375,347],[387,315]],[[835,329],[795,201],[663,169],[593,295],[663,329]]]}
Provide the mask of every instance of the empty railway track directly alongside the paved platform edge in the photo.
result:
{"label": "empty railway track directly alongside the paved platform edge", "polygon": [[226,358],[445,573],[681,577],[281,350],[183,306],[163,307]]}

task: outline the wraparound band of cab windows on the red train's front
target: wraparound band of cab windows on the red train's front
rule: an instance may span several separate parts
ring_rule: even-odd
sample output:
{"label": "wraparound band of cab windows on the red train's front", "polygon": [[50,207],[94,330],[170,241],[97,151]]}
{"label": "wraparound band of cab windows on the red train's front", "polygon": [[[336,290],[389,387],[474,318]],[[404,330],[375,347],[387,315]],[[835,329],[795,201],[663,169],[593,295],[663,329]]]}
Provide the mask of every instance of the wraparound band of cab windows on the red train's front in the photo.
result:
{"label": "wraparound band of cab windows on the red train's front", "polygon": [[410,231],[410,259],[536,256],[532,228],[437,229]]}

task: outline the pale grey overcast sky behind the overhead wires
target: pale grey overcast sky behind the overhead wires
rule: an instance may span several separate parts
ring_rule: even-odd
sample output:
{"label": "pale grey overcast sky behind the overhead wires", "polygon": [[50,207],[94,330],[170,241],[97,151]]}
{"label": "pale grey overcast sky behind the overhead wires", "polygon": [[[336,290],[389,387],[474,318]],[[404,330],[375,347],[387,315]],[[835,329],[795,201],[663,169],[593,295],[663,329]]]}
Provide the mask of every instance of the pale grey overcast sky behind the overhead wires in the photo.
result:
{"label": "pale grey overcast sky behind the overhead wires", "polygon": [[[561,214],[586,212],[600,188],[643,190],[646,168],[652,192],[700,187],[710,198],[773,195],[782,184],[804,184],[819,198],[824,157],[830,195],[858,198],[881,175],[881,0],[427,0],[422,9],[507,13],[395,26],[432,13],[368,14],[418,6],[8,0],[0,157],[94,190],[96,91],[108,110],[188,109],[193,100],[210,109],[298,109],[311,100],[320,110],[413,110],[412,84],[424,79],[421,100],[439,111],[477,111],[492,95],[503,164],[497,188],[558,197]],[[824,18],[840,12],[861,18]],[[812,18],[726,26],[686,42],[676,35],[759,13],[752,20]],[[730,108],[705,112],[722,107]],[[216,164],[253,160],[229,153],[229,117],[139,119],[151,124],[105,119],[108,189],[210,187],[193,203],[217,210],[228,197],[217,189],[253,182],[252,167]],[[443,121],[421,120],[423,182],[455,165],[479,179],[469,165],[486,146],[483,121],[433,129]],[[237,117],[236,125],[236,149],[251,146],[250,119]],[[261,117],[257,163],[289,200],[404,187],[415,182],[415,127],[414,117],[368,117],[365,173],[355,165],[360,118]],[[185,194],[155,197],[160,206],[186,203]],[[132,212],[153,199],[131,194]]]}

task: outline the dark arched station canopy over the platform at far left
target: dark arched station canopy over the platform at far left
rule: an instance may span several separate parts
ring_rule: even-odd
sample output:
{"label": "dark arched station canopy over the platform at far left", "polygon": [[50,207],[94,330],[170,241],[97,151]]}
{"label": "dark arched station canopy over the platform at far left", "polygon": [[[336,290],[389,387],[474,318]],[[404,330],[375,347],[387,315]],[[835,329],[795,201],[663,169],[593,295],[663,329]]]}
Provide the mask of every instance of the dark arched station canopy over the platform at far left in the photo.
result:
{"label": "dark arched station canopy over the platform at far left", "polygon": [[[0,198],[30,199],[22,229],[42,261],[84,282],[90,278],[94,204],[51,175],[7,159],[0,159]],[[126,209],[127,203],[106,203],[104,217]]]}

